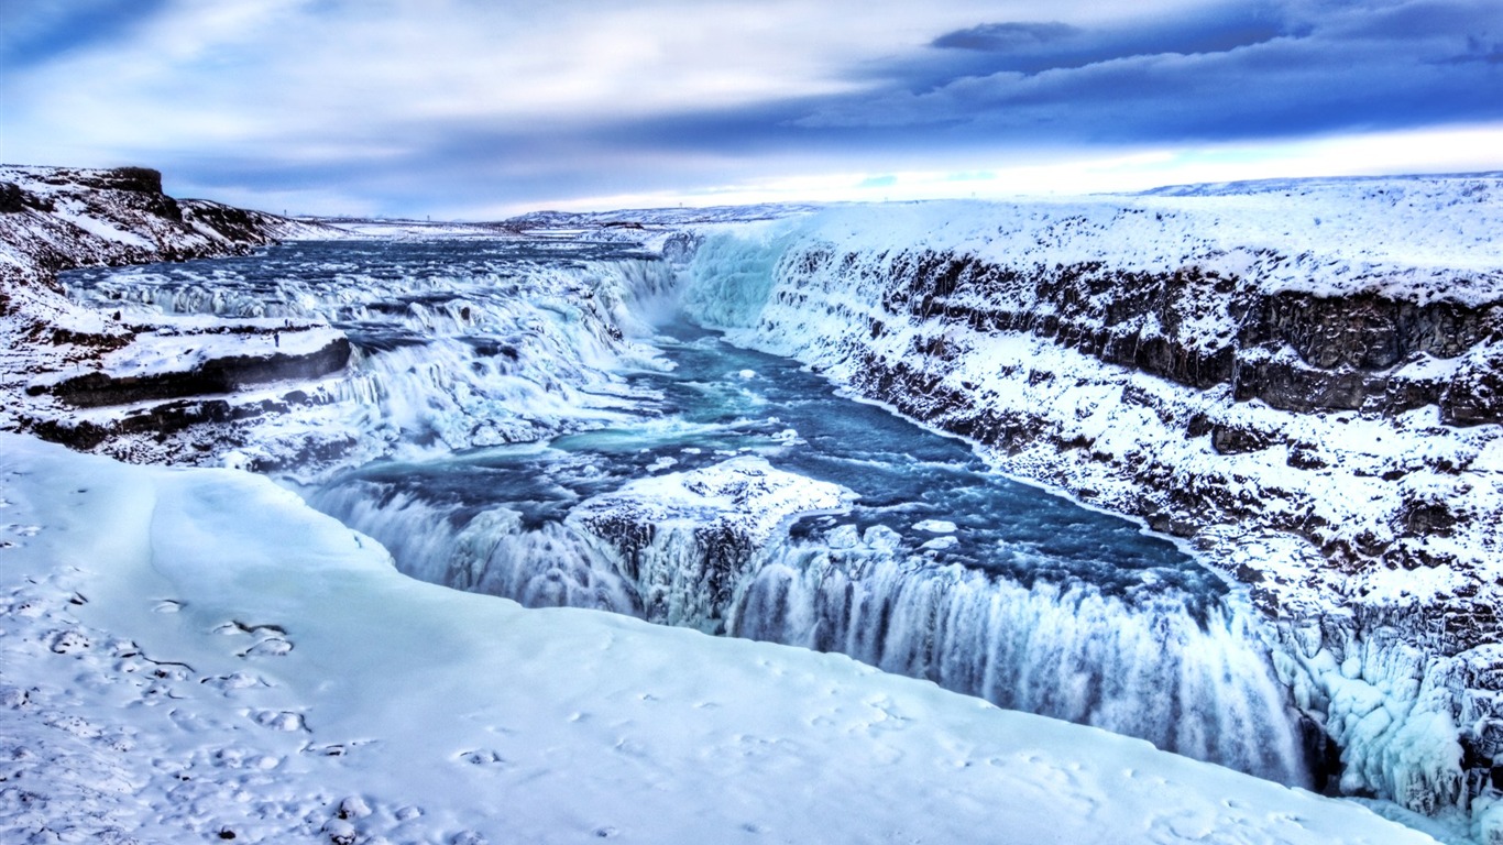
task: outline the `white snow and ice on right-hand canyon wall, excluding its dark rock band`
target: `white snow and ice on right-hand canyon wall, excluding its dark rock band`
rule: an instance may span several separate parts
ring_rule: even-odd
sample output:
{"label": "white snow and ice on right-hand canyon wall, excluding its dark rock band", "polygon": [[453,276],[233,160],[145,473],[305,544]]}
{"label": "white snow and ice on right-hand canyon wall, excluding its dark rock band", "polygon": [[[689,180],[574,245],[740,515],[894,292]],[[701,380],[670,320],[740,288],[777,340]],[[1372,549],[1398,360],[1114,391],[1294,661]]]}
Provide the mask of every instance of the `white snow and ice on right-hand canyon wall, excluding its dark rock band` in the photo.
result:
{"label": "white snow and ice on right-hand canyon wall, excluding its dark rock band", "polygon": [[[1237,401],[1225,383],[1195,389],[1027,329],[977,328],[944,305],[911,313],[900,299],[921,262],[977,257],[1024,280],[1102,262],[1217,271],[1254,296],[1363,293],[1495,307],[1500,185],[1498,174],[1480,174],[830,209],[708,236],[684,304],[736,343],[794,356],[837,385],[881,394],[873,361],[912,367],[926,395],[902,398],[932,410],[935,426],[1025,421],[1018,435],[978,447],[993,466],[1162,520],[1192,535],[1208,565],[1250,582],[1281,678],[1344,750],[1342,789],[1464,815],[1488,786],[1476,780],[1476,764],[1464,764],[1458,740],[1497,747],[1480,738],[1495,735],[1489,723],[1461,716],[1491,713],[1497,686],[1476,650],[1486,642],[1467,639],[1491,639],[1503,586],[1497,426],[1441,426],[1434,404],[1384,416]],[[1009,299],[972,302],[965,298],[981,293],[962,287],[947,305],[1054,316],[1027,283],[972,287]],[[1229,299],[1189,313],[1181,335],[1232,337],[1240,323]],[[1093,328],[1111,326],[1078,326]],[[1163,331],[1136,328],[1145,337]],[[1440,379],[1461,361],[1417,356],[1390,377]],[[1223,453],[1211,436],[1190,435],[1195,419],[1266,436],[1267,445]],[[1444,525],[1405,531],[1408,514],[1429,504],[1449,514]],[[1410,562],[1332,552],[1365,543],[1402,550]],[[1299,650],[1300,638],[1311,648]]]}

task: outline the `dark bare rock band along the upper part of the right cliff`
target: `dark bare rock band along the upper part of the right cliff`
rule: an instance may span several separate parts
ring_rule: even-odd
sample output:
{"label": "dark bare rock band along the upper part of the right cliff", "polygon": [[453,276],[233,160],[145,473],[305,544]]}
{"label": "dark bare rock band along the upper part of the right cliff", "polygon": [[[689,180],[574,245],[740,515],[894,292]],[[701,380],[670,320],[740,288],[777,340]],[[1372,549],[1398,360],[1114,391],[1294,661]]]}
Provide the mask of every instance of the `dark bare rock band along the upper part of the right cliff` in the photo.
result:
{"label": "dark bare rock band along the upper part of the right cliff", "polygon": [[[800,275],[873,272],[860,256],[827,248],[792,254],[783,266]],[[1165,272],[1103,262],[1021,268],[936,251],[894,256],[881,281],[882,307],[920,323],[1031,334],[1196,389],[1231,385],[1240,401],[1383,415],[1440,404],[1449,424],[1503,422],[1503,352],[1473,353],[1450,383],[1402,370],[1425,356],[1468,353],[1503,331],[1497,304],[1266,295],[1193,265]],[[1204,325],[1237,328],[1205,337]],[[875,319],[869,328],[872,338],[887,331]],[[953,359],[947,343],[915,338],[912,352]]]}

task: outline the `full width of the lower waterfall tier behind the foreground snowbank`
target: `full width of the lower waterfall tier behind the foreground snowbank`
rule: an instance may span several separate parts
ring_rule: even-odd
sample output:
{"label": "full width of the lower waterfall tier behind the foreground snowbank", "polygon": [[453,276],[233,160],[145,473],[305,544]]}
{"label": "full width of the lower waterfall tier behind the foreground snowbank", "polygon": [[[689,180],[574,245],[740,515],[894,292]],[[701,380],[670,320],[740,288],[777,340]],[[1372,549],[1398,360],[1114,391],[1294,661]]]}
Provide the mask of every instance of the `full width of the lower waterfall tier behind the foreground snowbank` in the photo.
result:
{"label": "full width of the lower waterfall tier behind the foreground snowbank", "polygon": [[594,607],[837,651],[999,707],[1309,785],[1288,692],[1234,603],[1205,610],[1177,588],[1022,586],[935,565],[884,526],[711,541],[649,522],[529,525],[517,510],[433,505],[370,481],[313,492],[310,502],[385,543],[424,580],[529,607]]}

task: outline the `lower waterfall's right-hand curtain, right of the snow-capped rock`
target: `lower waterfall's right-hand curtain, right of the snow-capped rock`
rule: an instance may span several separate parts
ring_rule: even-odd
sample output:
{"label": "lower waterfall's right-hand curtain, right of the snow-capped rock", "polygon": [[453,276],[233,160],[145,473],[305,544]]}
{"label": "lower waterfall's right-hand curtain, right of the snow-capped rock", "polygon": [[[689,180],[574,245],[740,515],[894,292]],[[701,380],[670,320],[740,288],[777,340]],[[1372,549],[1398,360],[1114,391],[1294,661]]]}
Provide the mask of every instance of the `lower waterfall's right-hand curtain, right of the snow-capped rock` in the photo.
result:
{"label": "lower waterfall's right-hand curtain, right of the snow-capped rock", "polygon": [[730,633],[839,651],[999,707],[1141,737],[1285,783],[1308,779],[1287,693],[1232,606],[1129,603],[1087,583],[905,555],[876,526],[789,543],[741,588]]}

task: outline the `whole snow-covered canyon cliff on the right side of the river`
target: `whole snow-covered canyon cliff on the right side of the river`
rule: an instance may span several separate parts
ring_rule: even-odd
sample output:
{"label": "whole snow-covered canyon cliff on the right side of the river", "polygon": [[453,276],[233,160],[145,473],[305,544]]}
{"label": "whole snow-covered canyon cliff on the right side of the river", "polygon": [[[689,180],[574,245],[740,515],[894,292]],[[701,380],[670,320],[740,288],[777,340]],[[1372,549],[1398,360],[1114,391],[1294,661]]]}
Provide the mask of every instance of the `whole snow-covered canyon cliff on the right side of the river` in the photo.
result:
{"label": "whole snow-covered canyon cliff on the right side of the river", "polygon": [[1333,786],[1503,786],[1503,180],[830,210],[685,304],[1189,538],[1250,586]]}

